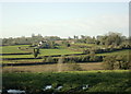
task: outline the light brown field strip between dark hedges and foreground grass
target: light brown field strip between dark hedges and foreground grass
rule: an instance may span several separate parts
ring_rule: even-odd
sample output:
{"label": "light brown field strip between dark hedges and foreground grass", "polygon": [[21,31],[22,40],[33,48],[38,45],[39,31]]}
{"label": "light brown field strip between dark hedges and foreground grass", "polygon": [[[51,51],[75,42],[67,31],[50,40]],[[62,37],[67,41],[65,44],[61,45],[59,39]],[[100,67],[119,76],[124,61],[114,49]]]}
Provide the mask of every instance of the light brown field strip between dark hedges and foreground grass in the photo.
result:
{"label": "light brown field strip between dark hedges and foreground grass", "polygon": [[[71,68],[71,63],[62,63],[61,71],[76,71]],[[78,63],[83,71],[86,70],[104,70],[102,62]],[[43,66],[22,66],[22,67],[4,67],[3,72],[58,72],[58,64]]]}

